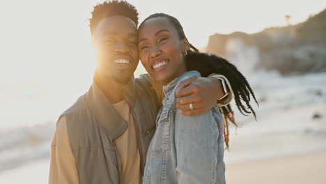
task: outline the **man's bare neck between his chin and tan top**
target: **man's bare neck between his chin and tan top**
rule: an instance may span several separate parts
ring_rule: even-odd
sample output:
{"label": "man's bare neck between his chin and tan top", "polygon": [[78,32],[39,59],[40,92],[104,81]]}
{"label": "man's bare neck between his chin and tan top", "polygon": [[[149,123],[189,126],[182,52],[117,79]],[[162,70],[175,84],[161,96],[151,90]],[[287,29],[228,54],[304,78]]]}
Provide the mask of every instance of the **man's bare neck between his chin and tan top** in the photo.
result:
{"label": "man's bare neck between his chin and tan top", "polygon": [[95,72],[94,81],[111,103],[123,100],[123,84],[117,83],[111,77],[99,75]]}

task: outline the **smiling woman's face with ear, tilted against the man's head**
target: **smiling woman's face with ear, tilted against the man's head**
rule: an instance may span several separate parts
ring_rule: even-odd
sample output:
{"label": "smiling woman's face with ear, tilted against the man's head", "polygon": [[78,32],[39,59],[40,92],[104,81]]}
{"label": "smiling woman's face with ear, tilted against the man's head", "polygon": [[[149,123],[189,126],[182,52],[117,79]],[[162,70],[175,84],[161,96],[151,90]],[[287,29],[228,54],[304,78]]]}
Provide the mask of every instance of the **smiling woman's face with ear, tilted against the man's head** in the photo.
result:
{"label": "smiling woman's face with ear, tilted against the man's head", "polygon": [[189,49],[187,39],[166,17],[146,20],[139,29],[138,48],[141,63],[156,81],[168,84],[186,71],[183,54]]}

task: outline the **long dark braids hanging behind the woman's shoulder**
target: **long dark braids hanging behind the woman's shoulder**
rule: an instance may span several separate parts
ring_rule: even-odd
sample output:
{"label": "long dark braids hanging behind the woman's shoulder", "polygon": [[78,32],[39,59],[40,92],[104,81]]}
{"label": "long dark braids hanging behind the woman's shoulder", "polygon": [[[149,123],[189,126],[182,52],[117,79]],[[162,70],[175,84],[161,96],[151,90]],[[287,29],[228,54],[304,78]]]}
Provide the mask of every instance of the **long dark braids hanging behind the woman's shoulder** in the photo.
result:
{"label": "long dark braids hanging behind the woman's shoulder", "polygon": [[[254,98],[254,101],[258,105],[254,91],[252,91],[247,79],[232,63],[229,63],[226,59],[219,56],[200,53],[196,47],[190,45],[190,49],[186,56],[186,67],[187,70],[197,70],[201,72],[203,77],[208,77],[208,75],[212,73],[224,75],[231,84],[235,105],[238,107],[240,113],[244,116],[248,116],[248,114],[252,113],[256,119],[256,112],[254,112],[254,109],[250,105],[250,96]],[[227,149],[229,141],[228,122],[231,121],[236,127],[238,127],[238,124],[235,123],[234,112],[231,105],[221,107],[220,111],[224,115],[224,141]]]}

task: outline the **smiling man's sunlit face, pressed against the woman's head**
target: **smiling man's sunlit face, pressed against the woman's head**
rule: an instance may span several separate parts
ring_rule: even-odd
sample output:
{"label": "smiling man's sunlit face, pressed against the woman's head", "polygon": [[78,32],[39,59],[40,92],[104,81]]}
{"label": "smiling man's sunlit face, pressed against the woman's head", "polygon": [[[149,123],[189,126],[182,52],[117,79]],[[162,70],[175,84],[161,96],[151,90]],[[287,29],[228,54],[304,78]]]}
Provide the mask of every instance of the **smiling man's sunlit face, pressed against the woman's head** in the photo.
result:
{"label": "smiling man's sunlit face, pressed against the woman's head", "polygon": [[126,84],[139,62],[136,24],[128,17],[107,17],[95,29],[93,43],[98,74]]}

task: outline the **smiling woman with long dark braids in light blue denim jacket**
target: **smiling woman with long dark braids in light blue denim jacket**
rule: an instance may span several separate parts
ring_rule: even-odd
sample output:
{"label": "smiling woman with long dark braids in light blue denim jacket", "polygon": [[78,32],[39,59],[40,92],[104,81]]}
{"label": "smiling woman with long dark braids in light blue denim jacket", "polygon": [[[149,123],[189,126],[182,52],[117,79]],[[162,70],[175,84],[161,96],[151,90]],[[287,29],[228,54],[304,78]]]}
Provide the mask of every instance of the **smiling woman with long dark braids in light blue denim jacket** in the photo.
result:
{"label": "smiling woman with long dark braids in light blue denim jacket", "polygon": [[[187,72],[193,66],[192,57],[199,57],[196,61],[202,61],[203,57],[190,53],[190,47],[182,26],[170,15],[150,15],[139,26],[141,63],[153,79],[165,85],[163,107],[148,149],[143,183],[225,183],[223,118],[219,110],[212,108],[199,116],[183,116],[175,108],[178,84],[190,76],[200,76],[194,70]],[[210,59],[213,56],[208,56],[205,63],[218,70],[220,65],[212,65]],[[239,97],[238,90],[242,90],[247,97],[252,92],[246,86],[247,81],[234,66],[228,66],[227,61],[222,63],[225,66],[221,68],[226,68],[223,72],[231,72],[228,76],[240,84],[233,92]],[[249,98],[244,100],[248,106]],[[192,103],[189,106],[194,108]],[[231,109],[227,107],[224,111],[231,112]]]}

